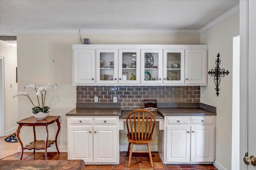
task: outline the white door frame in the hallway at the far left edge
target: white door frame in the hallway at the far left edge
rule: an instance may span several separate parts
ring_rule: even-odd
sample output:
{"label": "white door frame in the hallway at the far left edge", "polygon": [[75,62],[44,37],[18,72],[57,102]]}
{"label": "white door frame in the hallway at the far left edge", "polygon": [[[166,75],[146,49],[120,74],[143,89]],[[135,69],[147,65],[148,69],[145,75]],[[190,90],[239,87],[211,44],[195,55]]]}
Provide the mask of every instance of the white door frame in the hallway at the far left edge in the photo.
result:
{"label": "white door frame in the hallway at the far left edge", "polygon": [[4,57],[0,57],[0,137],[5,136]]}

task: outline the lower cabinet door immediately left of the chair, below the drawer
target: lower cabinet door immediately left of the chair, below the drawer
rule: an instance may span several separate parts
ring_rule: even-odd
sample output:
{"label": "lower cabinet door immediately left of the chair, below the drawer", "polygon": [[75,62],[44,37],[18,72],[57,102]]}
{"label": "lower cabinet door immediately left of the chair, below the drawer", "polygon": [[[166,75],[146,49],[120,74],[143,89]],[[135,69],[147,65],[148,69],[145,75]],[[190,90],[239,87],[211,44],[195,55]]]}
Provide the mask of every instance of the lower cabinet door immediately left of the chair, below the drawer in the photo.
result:
{"label": "lower cabinet door immediately left of the chair, below the drawer", "polygon": [[94,162],[119,162],[117,126],[94,126]]}

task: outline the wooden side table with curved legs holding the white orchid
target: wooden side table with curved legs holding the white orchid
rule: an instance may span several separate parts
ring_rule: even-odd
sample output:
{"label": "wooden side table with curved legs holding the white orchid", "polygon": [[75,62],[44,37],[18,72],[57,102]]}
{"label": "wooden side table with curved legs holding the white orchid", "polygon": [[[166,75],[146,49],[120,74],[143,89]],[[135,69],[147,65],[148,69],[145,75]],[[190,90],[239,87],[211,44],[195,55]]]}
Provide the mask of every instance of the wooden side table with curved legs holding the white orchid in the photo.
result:
{"label": "wooden side table with curved legs holding the white orchid", "polygon": [[[58,154],[60,154],[60,151],[59,151],[58,145],[57,145],[57,137],[58,137],[58,134],[60,132],[59,117],[60,116],[47,116],[46,118],[44,118],[42,120],[38,120],[34,116],[31,116],[31,117],[28,117],[26,119],[22,119],[21,121],[17,121],[17,123],[19,124],[19,127],[17,129],[17,138],[18,138],[18,140],[20,142],[20,145],[21,145],[21,148],[22,148],[21,154],[20,154],[20,160],[22,159],[24,149],[28,149],[28,150],[34,149],[34,153],[35,153],[35,150],[44,149],[45,150],[45,159],[47,160],[48,159],[47,158],[47,148],[50,147],[50,145],[54,144],[54,142],[55,142]],[[48,125],[50,125],[54,122],[57,122],[58,131],[56,132],[55,140],[50,141],[50,140],[48,140]],[[34,131],[34,142],[31,142],[30,145],[26,145],[26,147],[23,147],[22,141],[20,139],[20,129],[22,128],[22,126],[32,126],[33,131]],[[45,126],[46,127],[45,141],[43,141],[43,140],[37,141],[36,140],[36,131],[35,131],[36,126]]]}

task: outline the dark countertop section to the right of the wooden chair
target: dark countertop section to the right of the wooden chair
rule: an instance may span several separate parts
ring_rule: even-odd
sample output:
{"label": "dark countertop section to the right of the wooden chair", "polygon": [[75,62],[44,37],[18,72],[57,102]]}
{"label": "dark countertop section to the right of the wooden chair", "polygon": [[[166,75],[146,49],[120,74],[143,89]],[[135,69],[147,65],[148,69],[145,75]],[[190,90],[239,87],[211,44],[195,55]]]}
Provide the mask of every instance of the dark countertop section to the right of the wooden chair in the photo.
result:
{"label": "dark countertop section to the right of the wooden chair", "polygon": [[184,108],[184,107],[162,107],[158,108],[158,112],[162,116],[206,116],[216,115],[212,111],[208,111],[202,108]]}

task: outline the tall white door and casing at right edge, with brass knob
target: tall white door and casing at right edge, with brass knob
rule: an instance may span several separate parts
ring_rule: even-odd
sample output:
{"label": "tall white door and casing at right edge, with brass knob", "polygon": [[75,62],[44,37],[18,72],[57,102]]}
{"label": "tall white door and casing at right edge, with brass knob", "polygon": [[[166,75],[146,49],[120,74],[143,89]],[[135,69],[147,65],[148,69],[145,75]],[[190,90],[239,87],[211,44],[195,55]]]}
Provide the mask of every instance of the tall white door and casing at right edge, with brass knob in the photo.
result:
{"label": "tall white door and casing at right edge, with brass knob", "polygon": [[246,166],[243,157],[256,156],[256,1],[240,0],[240,169]]}

